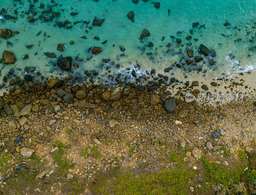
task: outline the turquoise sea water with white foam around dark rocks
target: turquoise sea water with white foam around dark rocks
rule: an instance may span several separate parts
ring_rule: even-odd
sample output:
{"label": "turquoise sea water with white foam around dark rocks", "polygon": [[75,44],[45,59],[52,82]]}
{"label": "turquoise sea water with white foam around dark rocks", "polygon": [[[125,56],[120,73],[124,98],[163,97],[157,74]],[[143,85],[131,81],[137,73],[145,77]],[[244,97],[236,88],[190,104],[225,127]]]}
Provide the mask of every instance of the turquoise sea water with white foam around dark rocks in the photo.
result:
{"label": "turquoise sea water with white foam around dark rocks", "polygon": [[[14,74],[19,75],[24,74],[19,70],[24,70],[26,66],[35,66],[42,75],[60,77],[60,73],[71,74],[54,66],[60,55],[71,56],[73,63],[79,64],[79,68],[72,67],[76,78],[87,79],[84,71],[96,71],[99,74],[94,76],[94,80],[98,82],[114,82],[111,77],[113,79],[118,73],[122,74],[120,80],[127,82],[130,78],[135,79],[130,74],[133,69],[137,77],[147,75],[154,69],[169,79],[174,77],[179,80],[192,80],[195,75],[220,78],[223,74],[232,76],[235,72],[254,70],[256,1],[157,2],[160,2],[160,8],[147,0],[139,0],[138,4],[132,0],[2,0],[0,29],[8,28],[20,34],[14,34],[7,40],[0,39],[0,56],[8,50],[17,57],[15,64],[1,64],[1,82],[10,68],[14,68]],[[129,11],[134,11],[134,22],[127,18]],[[53,12],[57,12],[58,17],[51,18]],[[33,18],[28,19],[28,16]],[[101,26],[92,26],[95,16],[105,19]],[[199,25],[192,27],[192,23],[196,22]],[[225,22],[230,25],[224,26]],[[147,29],[150,36],[139,40],[143,29]],[[36,36],[40,31],[42,33]],[[95,36],[100,40],[95,40]],[[177,44],[177,39],[181,39],[181,44]],[[107,43],[102,44],[105,40]],[[75,43],[70,45],[70,41]],[[58,43],[66,45],[63,52],[57,50]],[[216,56],[199,54],[200,44],[214,49]],[[27,49],[25,45],[34,47]],[[120,50],[120,45],[124,46],[124,51]],[[103,51],[91,55],[87,49],[93,46],[101,47]],[[187,65],[185,60],[193,61],[194,57],[187,56],[186,48],[193,49],[194,57],[202,56],[204,60]],[[56,58],[48,58],[44,52],[54,52]],[[29,59],[22,59],[25,54],[29,55]],[[76,61],[78,54],[83,61]],[[92,58],[88,60],[88,56]],[[102,59],[110,59],[110,62],[105,63]],[[210,65],[211,60],[215,64]],[[172,69],[164,72],[164,68],[168,67]]]}

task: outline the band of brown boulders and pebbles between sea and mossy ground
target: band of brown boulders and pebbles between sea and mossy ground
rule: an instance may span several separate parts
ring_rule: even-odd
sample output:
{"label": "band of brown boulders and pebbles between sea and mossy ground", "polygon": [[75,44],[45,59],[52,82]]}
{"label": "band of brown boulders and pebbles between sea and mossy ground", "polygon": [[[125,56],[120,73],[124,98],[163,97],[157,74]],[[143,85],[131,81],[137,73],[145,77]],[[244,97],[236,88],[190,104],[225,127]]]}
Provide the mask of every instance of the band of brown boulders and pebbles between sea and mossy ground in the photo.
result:
{"label": "band of brown boulders and pebbles between sea and mossy ground", "polygon": [[[162,150],[166,144],[185,149],[184,161],[193,169],[201,156],[227,162],[231,156],[236,158],[239,150],[250,153],[256,146],[255,101],[248,97],[212,107],[175,98],[162,84],[154,90],[134,83],[113,88],[59,84],[60,80],[53,78],[44,83],[16,78],[15,85],[1,97],[0,150],[2,157],[9,156],[3,167],[10,165],[2,169],[5,192],[16,193],[8,182],[20,176],[20,169],[36,173],[37,185],[43,184],[51,193],[74,192],[71,187],[60,189],[58,182],[50,185],[54,175],[61,177],[63,184],[73,176],[83,180],[86,184],[78,191],[95,194],[91,185],[98,185],[99,172],[104,176],[115,167],[136,169],[141,163],[151,164],[151,171],[162,170],[164,162],[153,162],[160,154],[168,154]],[[185,86],[180,93],[193,93],[193,86]],[[59,162],[58,151],[65,160]],[[227,151],[228,158],[223,156]],[[35,159],[40,159],[38,164]],[[64,171],[61,176],[56,173],[59,169]],[[204,182],[199,183],[202,186]],[[200,189],[198,184],[190,187]],[[36,188],[22,189],[32,193]],[[188,193],[194,191],[191,189]]]}

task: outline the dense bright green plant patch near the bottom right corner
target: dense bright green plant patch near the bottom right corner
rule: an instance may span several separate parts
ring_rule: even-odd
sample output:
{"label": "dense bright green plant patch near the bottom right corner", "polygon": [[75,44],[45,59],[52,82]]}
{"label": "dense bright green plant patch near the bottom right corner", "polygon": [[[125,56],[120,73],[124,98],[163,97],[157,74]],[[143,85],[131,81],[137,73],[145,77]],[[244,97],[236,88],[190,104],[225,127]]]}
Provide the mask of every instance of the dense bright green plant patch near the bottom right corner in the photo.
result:
{"label": "dense bright green plant patch near the bottom right corner", "polygon": [[231,179],[234,183],[239,183],[241,176],[244,174],[244,165],[236,164],[235,168],[219,165],[213,162],[209,162],[204,156],[201,157],[201,161],[204,167],[204,178],[207,182],[212,184],[229,185]]}

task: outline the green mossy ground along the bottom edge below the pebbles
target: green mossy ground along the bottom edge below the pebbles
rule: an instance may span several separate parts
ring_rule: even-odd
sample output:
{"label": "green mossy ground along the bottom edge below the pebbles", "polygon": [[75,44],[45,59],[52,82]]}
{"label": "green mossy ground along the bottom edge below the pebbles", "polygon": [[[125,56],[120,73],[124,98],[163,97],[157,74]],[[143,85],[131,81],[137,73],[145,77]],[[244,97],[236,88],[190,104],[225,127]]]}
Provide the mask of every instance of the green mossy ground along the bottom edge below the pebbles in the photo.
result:
{"label": "green mossy ground along the bottom edge below the pebbles", "polygon": [[[138,167],[120,167],[110,168],[108,172],[103,169],[94,173],[94,179],[85,180],[74,174],[73,181],[67,181],[66,174],[72,164],[65,157],[66,145],[57,141],[53,146],[58,146],[58,150],[52,154],[55,163],[58,167],[55,172],[46,177],[48,184],[41,180],[35,179],[36,174],[47,170],[46,163],[41,161],[40,156],[32,155],[26,162],[26,167],[29,171],[21,170],[14,171],[13,176],[6,182],[2,189],[3,193],[35,193],[38,189],[40,192],[54,193],[56,191],[62,194],[81,194],[88,189],[91,194],[216,194],[212,190],[212,185],[223,185],[229,188],[233,184],[243,182],[249,189],[256,189],[253,181],[256,179],[256,171],[249,167],[250,158],[243,151],[238,152],[238,157],[229,156],[218,157],[219,164],[215,163],[213,157],[204,157],[199,161],[184,161],[187,151],[192,148],[180,149],[167,144],[162,144],[158,157],[147,162],[142,162]],[[133,153],[131,149],[131,153]],[[81,157],[88,155],[96,156],[97,148],[92,148],[89,153],[87,150],[81,151]],[[250,155],[249,155],[250,156]],[[251,155],[253,158],[253,155]],[[0,162],[2,170],[9,169],[11,166],[7,163],[10,160],[9,156],[2,154]],[[16,162],[22,162],[21,157],[15,158]],[[121,158],[114,159],[122,161]],[[127,160],[127,159],[126,159]],[[228,165],[223,163],[228,161]],[[193,165],[197,169],[193,169]],[[249,167],[248,169],[246,169]],[[230,184],[232,181],[232,184]],[[60,185],[61,184],[61,185]],[[198,187],[201,185],[201,187]],[[231,187],[230,187],[231,186]],[[54,191],[50,192],[54,187]],[[189,187],[193,187],[191,191]],[[19,189],[19,190],[18,190]],[[39,193],[39,192],[38,192]]]}

